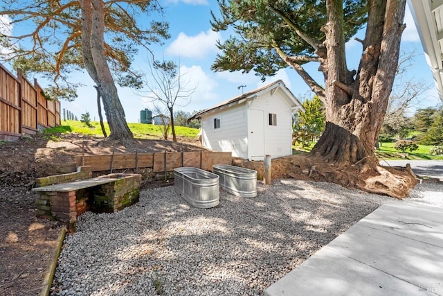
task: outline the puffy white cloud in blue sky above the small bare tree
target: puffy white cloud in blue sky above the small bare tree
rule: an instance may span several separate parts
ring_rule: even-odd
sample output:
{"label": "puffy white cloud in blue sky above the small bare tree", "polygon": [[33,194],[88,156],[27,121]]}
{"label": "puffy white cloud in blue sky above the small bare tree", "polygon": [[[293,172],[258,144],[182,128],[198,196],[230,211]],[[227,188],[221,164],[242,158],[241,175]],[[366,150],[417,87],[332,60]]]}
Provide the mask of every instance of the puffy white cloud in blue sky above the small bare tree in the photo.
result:
{"label": "puffy white cloud in blue sky above the small bare tree", "polygon": [[210,52],[217,51],[217,40],[221,39],[219,32],[208,30],[195,36],[179,33],[179,36],[166,49],[168,55],[177,55],[183,58],[205,58]]}

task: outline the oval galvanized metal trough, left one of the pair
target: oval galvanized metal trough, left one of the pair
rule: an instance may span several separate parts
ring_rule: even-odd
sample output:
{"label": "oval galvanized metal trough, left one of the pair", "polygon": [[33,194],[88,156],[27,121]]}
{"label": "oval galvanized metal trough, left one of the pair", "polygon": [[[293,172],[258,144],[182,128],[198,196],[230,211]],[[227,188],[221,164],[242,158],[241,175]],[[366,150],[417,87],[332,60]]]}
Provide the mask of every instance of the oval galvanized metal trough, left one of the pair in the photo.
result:
{"label": "oval galvanized metal trough, left one of the pair", "polygon": [[219,176],[200,168],[174,168],[174,187],[194,207],[219,204]]}

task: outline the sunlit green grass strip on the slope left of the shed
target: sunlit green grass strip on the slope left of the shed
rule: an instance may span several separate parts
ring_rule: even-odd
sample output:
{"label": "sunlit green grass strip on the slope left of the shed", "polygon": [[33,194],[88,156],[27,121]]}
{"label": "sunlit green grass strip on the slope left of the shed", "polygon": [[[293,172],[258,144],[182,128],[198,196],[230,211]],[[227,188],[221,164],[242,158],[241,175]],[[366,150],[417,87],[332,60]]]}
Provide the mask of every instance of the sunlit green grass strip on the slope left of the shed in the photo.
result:
{"label": "sunlit green grass strip on the slope left of the shed", "polygon": [[[78,134],[90,134],[93,136],[103,136],[102,129],[100,128],[99,121],[91,121],[92,128],[89,128],[86,124],[81,121],[62,121],[61,126],[57,126],[55,128],[50,128],[45,130],[46,133],[66,133],[66,132],[75,132]],[[162,136],[162,128],[161,125],[152,125],[145,123],[128,123],[129,129],[134,134],[134,137],[137,139],[163,139]],[[105,130],[107,134],[109,134],[109,126],[105,122]],[[175,132],[177,137],[189,137],[189,138],[197,138],[197,134],[199,133],[199,129],[197,128],[188,128],[185,126],[176,126]],[[171,131],[169,132],[170,138],[172,138]]]}

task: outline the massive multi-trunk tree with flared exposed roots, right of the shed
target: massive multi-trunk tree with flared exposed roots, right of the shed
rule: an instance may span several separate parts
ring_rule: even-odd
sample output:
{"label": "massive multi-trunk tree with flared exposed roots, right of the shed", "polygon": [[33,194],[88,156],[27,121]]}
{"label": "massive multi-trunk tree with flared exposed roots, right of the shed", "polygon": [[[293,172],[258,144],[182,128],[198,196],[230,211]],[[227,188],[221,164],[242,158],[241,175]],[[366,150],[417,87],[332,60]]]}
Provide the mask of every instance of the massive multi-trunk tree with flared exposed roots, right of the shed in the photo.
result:
{"label": "massive multi-trunk tree with flared exposed roots, right of the shed", "polygon": [[[311,151],[313,162],[323,165],[311,175],[404,198],[415,176],[410,168],[381,167],[374,146],[397,71],[405,5],[406,0],[219,0],[221,19],[213,28],[232,28],[236,36],[219,44],[213,69],[254,70],[262,78],[284,67],[296,70],[325,104],[325,132]],[[359,69],[350,70],[345,42],[364,25]],[[305,71],[306,62],[319,63],[323,83]]]}

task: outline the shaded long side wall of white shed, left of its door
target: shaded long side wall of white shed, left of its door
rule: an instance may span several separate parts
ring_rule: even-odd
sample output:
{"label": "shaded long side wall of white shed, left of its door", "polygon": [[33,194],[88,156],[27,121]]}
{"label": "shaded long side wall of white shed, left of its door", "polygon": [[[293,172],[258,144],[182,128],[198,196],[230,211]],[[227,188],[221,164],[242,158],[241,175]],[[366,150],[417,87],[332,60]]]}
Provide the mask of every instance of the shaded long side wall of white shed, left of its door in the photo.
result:
{"label": "shaded long side wall of white shed, left of its door", "polygon": [[[214,128],[214,119],[220,128]],[[202,145],[215,151],[231,151],[234,157],[248,157],[246,105],[237,104],[201,116]]]}

